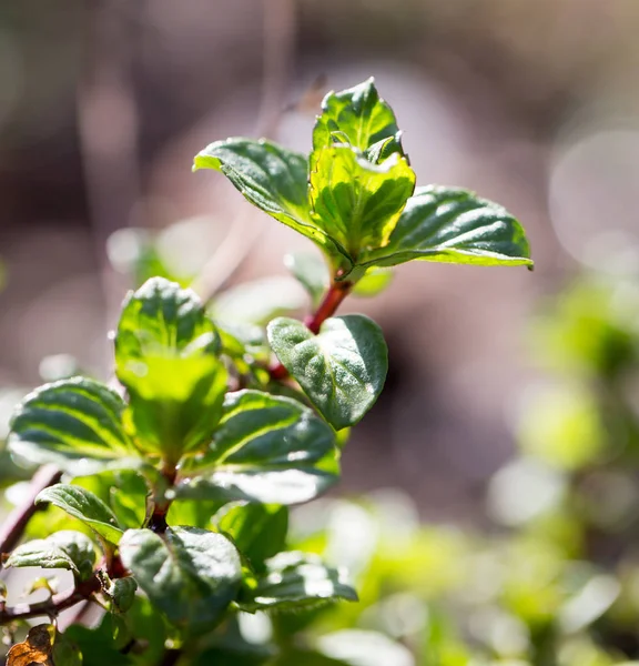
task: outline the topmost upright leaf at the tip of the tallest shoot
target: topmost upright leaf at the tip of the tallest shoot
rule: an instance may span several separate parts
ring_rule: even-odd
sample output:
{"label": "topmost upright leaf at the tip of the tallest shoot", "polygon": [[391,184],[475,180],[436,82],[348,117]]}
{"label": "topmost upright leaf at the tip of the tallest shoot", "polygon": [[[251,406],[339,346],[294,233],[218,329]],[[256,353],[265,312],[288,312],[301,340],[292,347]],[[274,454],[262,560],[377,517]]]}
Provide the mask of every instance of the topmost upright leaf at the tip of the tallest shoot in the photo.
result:
{"label": "topmost upright leaf at the tip of the tallest shoot", "polygon": [[371,78],[324,98],[322,114],[313,130],[313,150],[337,142],[364,152],[379,141],[395,138],[398,131],[393,110],[379,98]]}

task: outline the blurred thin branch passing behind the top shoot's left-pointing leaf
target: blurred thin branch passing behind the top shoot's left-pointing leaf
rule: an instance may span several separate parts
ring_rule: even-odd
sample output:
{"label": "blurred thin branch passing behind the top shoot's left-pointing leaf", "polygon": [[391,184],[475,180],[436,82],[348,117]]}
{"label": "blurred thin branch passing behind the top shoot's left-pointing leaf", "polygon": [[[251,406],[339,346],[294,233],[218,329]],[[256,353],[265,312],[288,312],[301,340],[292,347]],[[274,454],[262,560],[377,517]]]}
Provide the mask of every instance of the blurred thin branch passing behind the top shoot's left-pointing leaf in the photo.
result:
{"label": "blurred thin branch passing behind the top shoot's left-pointing leaf", "polygon": [[[283,100],[291,78],[297,20],[295,0],[263,0],[264,63],[262,101],[255,127],[258,137],[274,138],[282,118]],[[206,262],[193,289],[211,301],[246,259],[263,226],[250,225],[250,212],[239,213],[224,241]]]}

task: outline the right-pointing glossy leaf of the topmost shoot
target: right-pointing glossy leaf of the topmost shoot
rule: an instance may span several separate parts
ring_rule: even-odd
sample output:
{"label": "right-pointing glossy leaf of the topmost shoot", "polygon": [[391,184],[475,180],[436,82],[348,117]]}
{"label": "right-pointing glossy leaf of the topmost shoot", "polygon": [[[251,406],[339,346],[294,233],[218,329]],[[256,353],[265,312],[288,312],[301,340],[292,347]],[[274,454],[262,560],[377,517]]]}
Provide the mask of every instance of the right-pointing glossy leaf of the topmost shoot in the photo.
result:
{"label": "right-pointing glossy leaf of the topmost shoot", "polygon": [[503,206],[473,192],[417,188],[385,248],[362,265],[394,266],[413,259],[480,265],[532,265],[519,222]]}

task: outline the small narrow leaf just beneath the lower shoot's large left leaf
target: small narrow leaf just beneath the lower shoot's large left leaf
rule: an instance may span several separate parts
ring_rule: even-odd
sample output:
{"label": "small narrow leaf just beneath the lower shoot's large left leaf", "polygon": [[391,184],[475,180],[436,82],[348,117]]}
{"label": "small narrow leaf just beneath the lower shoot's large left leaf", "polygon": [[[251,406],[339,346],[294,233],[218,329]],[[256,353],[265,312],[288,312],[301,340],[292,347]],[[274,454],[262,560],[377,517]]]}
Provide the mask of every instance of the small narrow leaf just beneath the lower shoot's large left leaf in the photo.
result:
{"label": "small narrow leaf just beneath the lower shoot's large left leaf", "polygon": [[82,521],[105,541],[116,544],[122,536],[113,512],[93,493],[74,485],[59,483],[44,488],[36,504],[49,502],[69,515]]}

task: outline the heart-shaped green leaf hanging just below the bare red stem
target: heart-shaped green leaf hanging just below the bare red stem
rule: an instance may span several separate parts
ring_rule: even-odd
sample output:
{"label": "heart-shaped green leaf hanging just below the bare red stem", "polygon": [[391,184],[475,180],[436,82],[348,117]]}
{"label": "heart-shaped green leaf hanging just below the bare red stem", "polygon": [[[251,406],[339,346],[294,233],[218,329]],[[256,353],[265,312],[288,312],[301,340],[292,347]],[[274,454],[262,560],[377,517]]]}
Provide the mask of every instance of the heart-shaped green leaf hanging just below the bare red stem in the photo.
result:
{"label": "heart-shaped green leaf hanging just below the bare red stem", "polygon": [[357,423],[382,392],[388,352],[382,330],[367,316],[328,319],[317,335],[280,317],[267,333],[277,359],[336,430]]}

